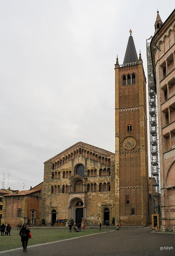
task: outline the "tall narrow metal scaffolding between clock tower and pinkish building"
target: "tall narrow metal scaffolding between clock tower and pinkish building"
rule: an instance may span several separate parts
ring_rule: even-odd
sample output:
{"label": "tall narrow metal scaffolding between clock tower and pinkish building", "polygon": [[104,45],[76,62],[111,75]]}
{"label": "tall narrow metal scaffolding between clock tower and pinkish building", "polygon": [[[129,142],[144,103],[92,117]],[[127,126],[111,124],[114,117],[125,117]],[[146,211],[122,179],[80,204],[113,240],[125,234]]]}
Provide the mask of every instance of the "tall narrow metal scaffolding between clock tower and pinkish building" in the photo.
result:
{"label": "tall narrow metal scaffolding between clock tower and pinkish building", "polygon": [[159,140],[157,122],[157,88],[153,76],[150,42],[152,36],[146,40],[147,76],[149,99],[149,132],[151,158],[151,214],[160,213],[160,170],[159,170]]}

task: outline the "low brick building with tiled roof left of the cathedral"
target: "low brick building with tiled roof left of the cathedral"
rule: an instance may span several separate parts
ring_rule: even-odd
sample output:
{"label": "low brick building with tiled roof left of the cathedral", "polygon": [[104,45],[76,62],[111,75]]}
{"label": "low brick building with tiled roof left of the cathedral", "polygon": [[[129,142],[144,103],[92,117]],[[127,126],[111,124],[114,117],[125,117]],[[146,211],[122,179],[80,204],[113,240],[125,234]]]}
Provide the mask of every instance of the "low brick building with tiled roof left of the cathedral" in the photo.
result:
{"label": "low brick building with tiled roof left of the cathedral", "polygon": [[39,225],[42,211],[43,182],[30,190],[14,190],[4,194],[1,223],[10,223],[10,226],[28,223]]}

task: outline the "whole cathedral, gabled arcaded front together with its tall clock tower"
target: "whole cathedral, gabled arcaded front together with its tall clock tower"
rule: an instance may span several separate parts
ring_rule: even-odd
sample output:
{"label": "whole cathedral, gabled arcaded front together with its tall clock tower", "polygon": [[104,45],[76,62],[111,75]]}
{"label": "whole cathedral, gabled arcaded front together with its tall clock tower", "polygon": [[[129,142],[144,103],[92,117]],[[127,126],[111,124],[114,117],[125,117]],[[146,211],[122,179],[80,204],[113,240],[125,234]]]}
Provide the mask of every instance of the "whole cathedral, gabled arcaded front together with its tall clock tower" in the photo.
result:
{"label": "whole cathedral, gabled arcaded front together with its tall clock tower", "polygon": [[115,154],[78,142],[44,163],[46,224],[149,224],[146,116],[146,77],[130,35],[115,65]]}

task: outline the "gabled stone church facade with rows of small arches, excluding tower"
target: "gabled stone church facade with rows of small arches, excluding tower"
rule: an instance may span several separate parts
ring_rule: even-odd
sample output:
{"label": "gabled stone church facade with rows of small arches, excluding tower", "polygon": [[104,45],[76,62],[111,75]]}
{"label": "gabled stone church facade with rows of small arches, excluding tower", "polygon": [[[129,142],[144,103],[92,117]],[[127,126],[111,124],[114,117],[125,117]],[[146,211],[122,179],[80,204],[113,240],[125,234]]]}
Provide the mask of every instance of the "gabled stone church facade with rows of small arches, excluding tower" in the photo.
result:
{"label": "gabled stone church facade with rows of small arches, excluding tower", "polygon": [[112,222],[115,216],[114,153],[78,142],[44,163],[43,217]]}

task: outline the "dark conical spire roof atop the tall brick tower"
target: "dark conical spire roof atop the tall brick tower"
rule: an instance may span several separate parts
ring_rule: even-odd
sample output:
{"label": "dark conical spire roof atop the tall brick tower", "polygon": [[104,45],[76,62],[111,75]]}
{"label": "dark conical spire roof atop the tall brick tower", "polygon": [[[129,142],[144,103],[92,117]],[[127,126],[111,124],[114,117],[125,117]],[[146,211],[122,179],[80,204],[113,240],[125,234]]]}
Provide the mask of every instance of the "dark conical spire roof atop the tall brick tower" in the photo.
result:
{"label": "dark conical spire roof atop the tall brick tower", "polygon": [[123,64],[137,62],[137,61],[138,61],[138,56],[136,52],[136,47],[134,44],[133,37],[130,36],[128,39],[128,45],[126,48]]}

